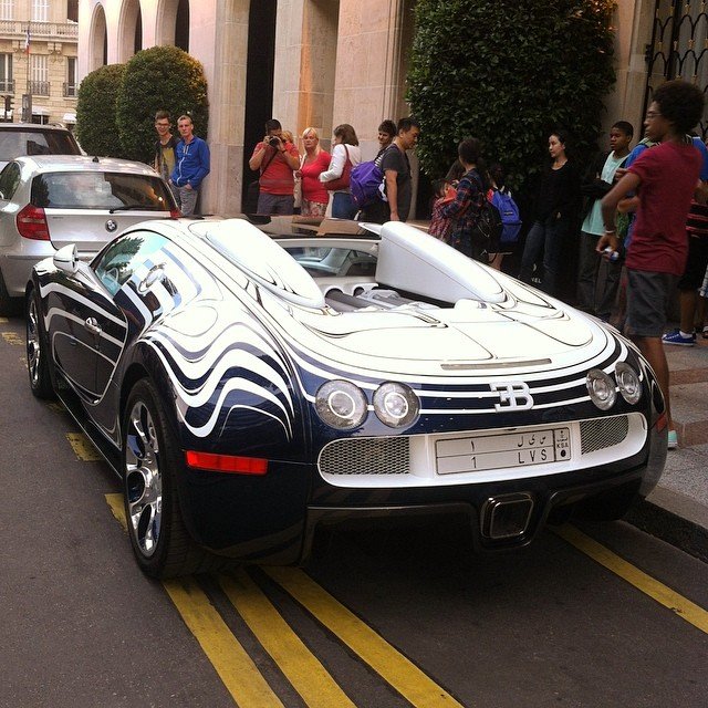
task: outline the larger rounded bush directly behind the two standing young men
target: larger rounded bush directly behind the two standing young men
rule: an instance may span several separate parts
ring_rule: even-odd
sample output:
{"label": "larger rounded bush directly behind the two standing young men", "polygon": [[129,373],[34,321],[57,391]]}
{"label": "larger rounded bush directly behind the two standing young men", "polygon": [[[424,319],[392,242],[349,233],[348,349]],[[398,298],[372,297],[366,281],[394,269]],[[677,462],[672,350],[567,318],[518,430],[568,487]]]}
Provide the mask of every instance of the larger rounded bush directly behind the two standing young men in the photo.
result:
{"label": "larger rounded bush directly behind the two standing young men", "polygon": [[195,134],[207,137],[209,102],[201,64],[176,46],[153,46],[137,52],[125,65],[118,91],[116,125],[123,156],[153,160],[155,113],[168,111],[173,133],[177,118],[191,115]]}

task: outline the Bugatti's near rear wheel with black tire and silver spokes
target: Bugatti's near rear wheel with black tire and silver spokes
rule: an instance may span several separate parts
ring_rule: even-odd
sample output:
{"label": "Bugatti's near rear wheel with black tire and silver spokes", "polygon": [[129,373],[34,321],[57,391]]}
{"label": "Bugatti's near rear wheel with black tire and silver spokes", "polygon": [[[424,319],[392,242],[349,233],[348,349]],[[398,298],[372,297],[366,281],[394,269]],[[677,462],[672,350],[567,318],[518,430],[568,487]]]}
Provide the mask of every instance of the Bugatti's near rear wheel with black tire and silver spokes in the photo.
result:
{"label": "Bugatti's near rear wheel with black tire and silver spokes", "polygon": [[181,517],[179,445],[157,389],[145,378],[131,391],[122,436],[125,518],[138,565],[160,579],[210,570],[211,555],[196,545]]}

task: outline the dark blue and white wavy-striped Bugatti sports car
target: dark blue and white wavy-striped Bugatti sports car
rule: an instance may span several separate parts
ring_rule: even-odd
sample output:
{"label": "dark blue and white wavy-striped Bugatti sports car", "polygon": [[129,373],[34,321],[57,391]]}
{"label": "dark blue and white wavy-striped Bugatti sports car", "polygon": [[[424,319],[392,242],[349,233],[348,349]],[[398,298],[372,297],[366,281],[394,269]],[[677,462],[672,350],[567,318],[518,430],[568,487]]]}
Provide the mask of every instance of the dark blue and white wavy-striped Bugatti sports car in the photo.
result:
{"label": "dark blue and white wavy-striped Bugatti sports car", "polygon": [[268,228],[144,222],[28,284],[32,392],[122,478],[146,573],[296,563],[372,517],[508,549],[656,483],[664,400],[614,330],[412,226]]}

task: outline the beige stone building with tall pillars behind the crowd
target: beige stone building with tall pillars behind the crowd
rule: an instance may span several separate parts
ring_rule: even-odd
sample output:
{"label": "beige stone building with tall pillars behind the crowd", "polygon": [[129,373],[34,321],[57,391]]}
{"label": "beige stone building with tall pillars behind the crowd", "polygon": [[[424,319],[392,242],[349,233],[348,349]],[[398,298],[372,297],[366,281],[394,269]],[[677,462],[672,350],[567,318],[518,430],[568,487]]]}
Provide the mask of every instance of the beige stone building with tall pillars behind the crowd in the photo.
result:
{"label": "beige stone building with tall pillars behind the crowd", "polygon": [[[415,0],[79,0],[79,76],[157,44],[198,59],[212,155],[202,209],[232,215],[270,117],[294,134],[315,127],[325,146],[334,126],[351,123],[364,159],[375,154],[381,121],[408,113],[414,10]],[[702,0],[618,0],[607,126],[624,118],[641,132],[652,87],[666,79],[708,84],[704,10]]]}

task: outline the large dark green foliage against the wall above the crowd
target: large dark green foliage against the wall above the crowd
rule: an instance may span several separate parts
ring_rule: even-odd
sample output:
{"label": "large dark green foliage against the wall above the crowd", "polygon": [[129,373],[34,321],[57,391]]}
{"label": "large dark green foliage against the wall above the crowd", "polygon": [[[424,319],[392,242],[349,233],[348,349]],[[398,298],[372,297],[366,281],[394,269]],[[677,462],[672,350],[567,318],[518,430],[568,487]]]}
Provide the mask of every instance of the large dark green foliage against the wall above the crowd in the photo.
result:
{"label": "large dark green foliage against the wall above the crowd", "polygon": [[577,155],[592,149],[615,81],[613,9],[612,0],[418,0],[407,97],[424,170],[445,175],[472,135],[523,189],[548,159],[552,129],[568,129]]}

